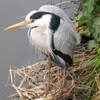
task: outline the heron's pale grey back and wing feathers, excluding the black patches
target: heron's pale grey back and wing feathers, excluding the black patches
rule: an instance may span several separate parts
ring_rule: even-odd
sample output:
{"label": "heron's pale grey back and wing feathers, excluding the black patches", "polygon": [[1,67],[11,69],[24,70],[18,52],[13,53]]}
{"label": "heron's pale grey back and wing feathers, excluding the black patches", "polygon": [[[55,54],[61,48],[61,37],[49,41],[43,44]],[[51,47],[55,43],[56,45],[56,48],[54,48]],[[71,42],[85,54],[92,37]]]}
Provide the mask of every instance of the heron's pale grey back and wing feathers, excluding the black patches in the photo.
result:
{"label": "heron's pale grey back and wing feathers, excluding the black patches", "polygon": [[[73,59],[74,47],[77,42],[78,34],[69,17],[63,10],[52,5],[44,5],[39,11],[54,13],[61,17],[59,28],[54,33],[54,47],[63,54],[68,54]],[[61,57],[56,55],[52,59],[56,64],[64,68],[65,61]]]}

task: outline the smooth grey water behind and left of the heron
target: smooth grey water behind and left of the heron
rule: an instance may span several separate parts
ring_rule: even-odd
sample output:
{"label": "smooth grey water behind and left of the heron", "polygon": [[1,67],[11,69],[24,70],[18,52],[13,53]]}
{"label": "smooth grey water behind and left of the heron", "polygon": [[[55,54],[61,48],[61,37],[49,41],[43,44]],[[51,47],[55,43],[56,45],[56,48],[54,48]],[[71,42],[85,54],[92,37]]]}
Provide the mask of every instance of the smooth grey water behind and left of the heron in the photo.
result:
{"label": "smooth grey water behind and left of the heron", "polygon": [[[39,51],[29,45],[27,38],[28,29],[19,29],[14,31],[3,31],[9,25],[15,24],[24,19],[19,19],[31,10],[38,9],[46,4],[48,0],[0,0],[0,100],[6,100],[12,93],[9,79],[9,68],[15,66],[31,65],[41,59]],[[61,0],[52,0],[53,4]],[[63,1],[63,0],[62,0]],[[75,3],[62,6],[69,17],[76,8]],[[8,80],[8,81],[7,81]],[[5,86],[8,84],[8,86]]]}

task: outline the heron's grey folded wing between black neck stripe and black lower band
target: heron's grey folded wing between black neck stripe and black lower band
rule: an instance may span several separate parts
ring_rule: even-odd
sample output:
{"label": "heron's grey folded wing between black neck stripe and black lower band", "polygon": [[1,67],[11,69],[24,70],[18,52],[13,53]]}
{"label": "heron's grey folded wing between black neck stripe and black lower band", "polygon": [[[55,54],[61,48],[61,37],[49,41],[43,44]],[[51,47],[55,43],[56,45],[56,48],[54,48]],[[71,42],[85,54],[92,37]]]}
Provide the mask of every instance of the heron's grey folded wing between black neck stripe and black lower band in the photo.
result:
{"label": "heron's grey folded wing between black neck stripe and black lower band", "polygon": [[74,47],[76,45],[76,37],[70,29],[70,24],[61,21],[58,30],[54,34],[54,46],[64,54],[70,55],[73,58]]}

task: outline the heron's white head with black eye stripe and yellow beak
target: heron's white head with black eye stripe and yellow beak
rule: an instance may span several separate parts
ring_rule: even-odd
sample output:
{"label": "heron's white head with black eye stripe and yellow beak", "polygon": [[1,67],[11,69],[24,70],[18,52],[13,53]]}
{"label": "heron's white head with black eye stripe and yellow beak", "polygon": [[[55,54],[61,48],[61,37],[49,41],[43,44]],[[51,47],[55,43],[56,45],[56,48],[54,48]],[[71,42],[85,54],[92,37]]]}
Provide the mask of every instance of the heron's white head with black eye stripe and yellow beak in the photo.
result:
{"label": "heron's white head with black eye stripe and yellow beak", "polygon": [[38,12],[36,10],[31,11],[25,18],[24,21],[14,24],[5,28],[4,30],[14,30],[18,28],[26,28],[26,27],[47,27],[50,23],[51,15],[46,12]]}

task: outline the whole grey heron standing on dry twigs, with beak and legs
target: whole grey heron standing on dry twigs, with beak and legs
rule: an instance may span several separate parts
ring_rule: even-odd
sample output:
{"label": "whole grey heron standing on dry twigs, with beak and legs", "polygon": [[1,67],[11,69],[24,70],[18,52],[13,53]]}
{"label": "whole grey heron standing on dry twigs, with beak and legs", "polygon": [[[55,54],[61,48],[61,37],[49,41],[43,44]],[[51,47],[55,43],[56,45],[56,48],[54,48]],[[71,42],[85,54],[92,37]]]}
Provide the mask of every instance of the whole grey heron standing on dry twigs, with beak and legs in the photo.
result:
{"label": "whole grey heron standing on dry twigs, with beak and legs", "polygon": [[38,11],[31,11],[25,21],[4,30],[24,27],[29,27],[28,37],[32,45],[37,46],[49,58],[49,80],[51,61],[64,69],[64,86],[65,71],[73,64],[73,53],[78,37],[69,17],[59,7],[43,5]]}

